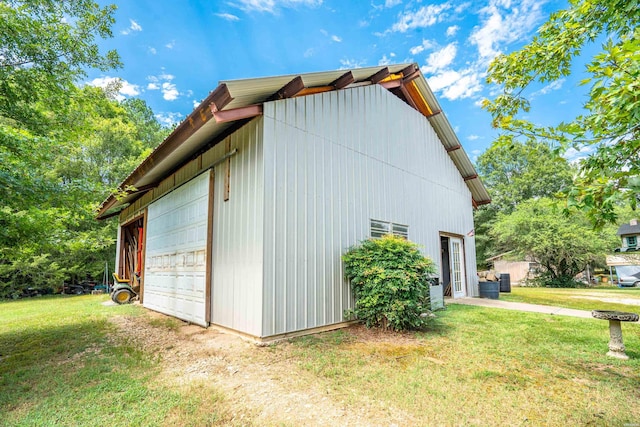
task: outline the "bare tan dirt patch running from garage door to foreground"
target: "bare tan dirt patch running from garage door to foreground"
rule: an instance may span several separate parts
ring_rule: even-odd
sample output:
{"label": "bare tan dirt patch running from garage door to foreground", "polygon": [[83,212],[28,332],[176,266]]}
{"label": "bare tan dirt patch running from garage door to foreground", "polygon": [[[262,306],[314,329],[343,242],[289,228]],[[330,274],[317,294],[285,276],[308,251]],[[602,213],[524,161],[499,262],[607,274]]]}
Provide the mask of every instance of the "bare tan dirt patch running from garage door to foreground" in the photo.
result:
{"label": "bare tan dirt patch running from garage door to foreground", "polygon": [[[230,402],[234,422],[256,425],[393,426],[415,420],[387,403],[346,402],[323,390],[312,374],[292,363],[281,342],[260,347],[215,329],[182,324],[158,326],[159,313],[113,317],[117,334],[160,358],[162,381],[176,387],[210,384]],[[160,320],[160,322],[158,322]],[[416,345],[408,334],[388,334],[362,326],[349,329],[350,341]]]}

